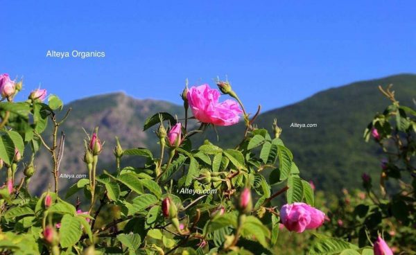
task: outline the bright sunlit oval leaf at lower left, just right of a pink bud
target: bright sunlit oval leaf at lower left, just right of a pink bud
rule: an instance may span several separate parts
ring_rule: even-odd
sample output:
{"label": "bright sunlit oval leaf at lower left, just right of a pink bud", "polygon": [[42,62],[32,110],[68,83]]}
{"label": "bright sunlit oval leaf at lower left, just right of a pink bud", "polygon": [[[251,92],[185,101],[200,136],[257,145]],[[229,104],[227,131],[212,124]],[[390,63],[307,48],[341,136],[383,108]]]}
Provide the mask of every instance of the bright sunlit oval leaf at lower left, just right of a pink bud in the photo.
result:
{"label": "bright sunlit oval leaf at lower left, just right of a pink bud", "polygon": [[59,233],[62,247],[67,248],[75,245],[83,234],[78,218],[65,214],[61,220]]}

